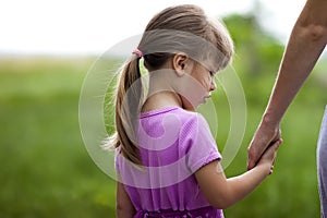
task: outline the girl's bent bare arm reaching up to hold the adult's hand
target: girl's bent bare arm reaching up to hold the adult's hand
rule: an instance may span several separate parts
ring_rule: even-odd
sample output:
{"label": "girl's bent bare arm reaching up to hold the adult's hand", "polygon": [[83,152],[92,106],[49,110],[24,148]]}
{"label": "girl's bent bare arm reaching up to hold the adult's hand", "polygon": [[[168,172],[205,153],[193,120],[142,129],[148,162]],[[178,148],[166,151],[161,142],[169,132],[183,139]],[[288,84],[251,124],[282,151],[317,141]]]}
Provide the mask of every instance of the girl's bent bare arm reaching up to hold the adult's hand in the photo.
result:
{"label": "girl's bent bare arm reaching up to hold the adult's hand", "polygon": [[280,143],[281,141],[277,141],[271,145],[255,168],[239,177],[227,179],[218,160],[197,170],[195,177],[208,203],[216,208],[225,209],[249,195],[272,172]]}

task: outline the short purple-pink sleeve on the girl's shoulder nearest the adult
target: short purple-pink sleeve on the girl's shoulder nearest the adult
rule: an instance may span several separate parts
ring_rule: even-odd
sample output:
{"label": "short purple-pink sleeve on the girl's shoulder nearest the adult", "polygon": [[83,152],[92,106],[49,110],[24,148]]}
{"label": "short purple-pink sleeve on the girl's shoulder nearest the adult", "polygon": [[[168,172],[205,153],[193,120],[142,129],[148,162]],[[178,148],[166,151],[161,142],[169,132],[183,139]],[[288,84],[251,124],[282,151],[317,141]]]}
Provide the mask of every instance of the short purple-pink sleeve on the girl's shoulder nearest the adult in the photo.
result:
{"label": "short purple-pink sleeve on the girl's shoulder nearest the adult", "polygon": [[221,160],[209,125],[199,113],[185,123],[181,131],[182,149],[186,154],[186,165],[192,173],[214,160]]}

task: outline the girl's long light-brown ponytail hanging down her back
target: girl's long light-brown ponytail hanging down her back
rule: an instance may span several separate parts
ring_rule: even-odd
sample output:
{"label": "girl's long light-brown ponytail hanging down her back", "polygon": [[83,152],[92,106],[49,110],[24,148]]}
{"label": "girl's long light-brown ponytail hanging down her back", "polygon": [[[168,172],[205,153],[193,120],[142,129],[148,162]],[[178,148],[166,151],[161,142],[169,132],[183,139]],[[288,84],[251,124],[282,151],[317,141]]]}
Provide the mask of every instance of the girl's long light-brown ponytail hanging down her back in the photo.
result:
{"label": "girl's long light-brown ponytail hanging down her back", "polygon": [[144,99],[138,55],[123,65],[116,95],[116,130],[113,146],[120,147],[130,161],[142,165],[137,146],[137,124]]}

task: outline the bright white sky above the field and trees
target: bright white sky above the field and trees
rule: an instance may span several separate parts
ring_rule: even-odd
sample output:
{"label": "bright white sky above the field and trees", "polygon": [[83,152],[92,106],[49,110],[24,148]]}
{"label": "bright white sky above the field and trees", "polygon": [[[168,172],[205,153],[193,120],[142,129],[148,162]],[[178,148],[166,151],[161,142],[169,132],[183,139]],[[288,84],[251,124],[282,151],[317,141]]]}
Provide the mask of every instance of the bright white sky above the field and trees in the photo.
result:
{"label": "bright white sky above the field and trees", "polygon": [[197,4],[214,17],[256,9],[263,27],[286,44],[305,0],[1,1],[0,55],[100,55],[180,3]]}

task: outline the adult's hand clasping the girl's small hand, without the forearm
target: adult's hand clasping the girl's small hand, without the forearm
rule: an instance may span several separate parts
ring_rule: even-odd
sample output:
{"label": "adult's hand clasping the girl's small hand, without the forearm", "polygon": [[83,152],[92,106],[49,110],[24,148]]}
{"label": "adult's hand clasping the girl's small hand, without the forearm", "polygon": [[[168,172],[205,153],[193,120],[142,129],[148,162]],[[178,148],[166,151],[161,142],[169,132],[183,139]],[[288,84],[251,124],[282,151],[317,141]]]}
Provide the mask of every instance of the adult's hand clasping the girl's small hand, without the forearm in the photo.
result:
{"label": "adult's hand clasping the girl's small hand, without the forearm", "polygon": [[247,170],[256,166],[267,147],[280,140],[280,136],[279,123],[271,124],[263,119],[247,148]]}

